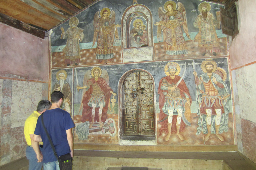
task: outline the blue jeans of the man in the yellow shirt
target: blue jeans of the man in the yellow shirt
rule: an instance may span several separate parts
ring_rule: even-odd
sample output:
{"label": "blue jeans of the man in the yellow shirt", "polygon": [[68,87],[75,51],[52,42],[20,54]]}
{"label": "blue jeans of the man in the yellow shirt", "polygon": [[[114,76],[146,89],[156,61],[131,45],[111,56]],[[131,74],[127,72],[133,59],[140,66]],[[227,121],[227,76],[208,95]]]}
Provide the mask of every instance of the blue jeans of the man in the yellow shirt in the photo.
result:
{"label": "blue jeans of the man in the yellow shirt", "polygon": [[[41,148],[40,148],[41,150]],[[37,162],[36,152],[32,147],[27,146],[26,148],[26,157],[29,161],[28,170],[41,170],[43,167],[43,162]]]}

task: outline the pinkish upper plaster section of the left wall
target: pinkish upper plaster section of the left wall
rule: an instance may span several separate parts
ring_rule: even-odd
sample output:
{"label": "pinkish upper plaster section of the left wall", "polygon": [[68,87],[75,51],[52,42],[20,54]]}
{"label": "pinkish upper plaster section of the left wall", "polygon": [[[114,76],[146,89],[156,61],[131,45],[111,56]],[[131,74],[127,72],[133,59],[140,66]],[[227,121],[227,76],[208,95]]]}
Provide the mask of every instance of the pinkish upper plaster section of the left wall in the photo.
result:
{"label": "pinkish upper plaster section of the left wall", "polygon": [[0,30],[0,76],[48,81],[48,38],[41,39],[2,23]]}

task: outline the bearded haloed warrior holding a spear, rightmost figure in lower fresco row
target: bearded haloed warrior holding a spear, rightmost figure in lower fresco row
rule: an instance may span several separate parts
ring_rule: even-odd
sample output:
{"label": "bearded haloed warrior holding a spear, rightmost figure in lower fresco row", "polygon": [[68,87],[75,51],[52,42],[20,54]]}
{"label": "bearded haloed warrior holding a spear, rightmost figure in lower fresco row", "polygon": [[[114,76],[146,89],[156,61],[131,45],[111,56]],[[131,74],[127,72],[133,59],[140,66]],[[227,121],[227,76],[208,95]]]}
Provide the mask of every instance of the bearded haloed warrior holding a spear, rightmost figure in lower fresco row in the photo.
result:
{"label": "bearded haloed warrior holding a spear, rightmost figure in lower fresco row", "polygon": [[[217,63],[212,59],[206,59],[201,63],[204,74],[197,76],[194,70],[195,83],[197,85],[197,114],[198,119],[197,135],[203,130],[204,141],[208,141],[210,135],[215,134],[220,141],[224,137],[220,135],[223,131],[228,131],[229,97],[228,87],[222,77],[215,73]],[[223,69],[222,69],[223,70]],[[224,70],[223,75],[227,74]],[[224,76],[226,77],[226,76]]]}

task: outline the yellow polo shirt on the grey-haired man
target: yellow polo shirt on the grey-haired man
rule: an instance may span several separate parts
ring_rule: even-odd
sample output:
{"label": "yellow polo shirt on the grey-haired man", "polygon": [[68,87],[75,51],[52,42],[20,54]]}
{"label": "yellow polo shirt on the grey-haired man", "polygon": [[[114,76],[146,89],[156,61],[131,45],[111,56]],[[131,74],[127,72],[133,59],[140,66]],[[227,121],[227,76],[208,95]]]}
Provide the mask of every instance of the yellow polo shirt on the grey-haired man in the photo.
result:
{"label": "yellow polo shirt on the grey-haired man", "polygon": [[[37,119],[39,116],[40,113],[34,111],[31,115],[29,115],[29,117],[25,121],[24,134],[28,145],[31,145],[30,134],[34,134]],[[43,142],[39,142],[39,144],[42,145]]]}

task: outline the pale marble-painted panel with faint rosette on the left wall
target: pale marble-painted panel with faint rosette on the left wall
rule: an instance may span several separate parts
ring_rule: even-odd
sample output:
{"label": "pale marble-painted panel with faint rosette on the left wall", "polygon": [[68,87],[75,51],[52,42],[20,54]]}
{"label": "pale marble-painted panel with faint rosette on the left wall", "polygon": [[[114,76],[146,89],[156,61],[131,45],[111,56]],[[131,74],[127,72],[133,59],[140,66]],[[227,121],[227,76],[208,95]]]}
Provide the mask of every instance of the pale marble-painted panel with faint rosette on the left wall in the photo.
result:
{"label": "pale marble-painted panel with faint rosette on the left wall", "polygon": [[27,117],[42,99],[42,83],[16,81],[12,83],[11,128],[24,126]]}

